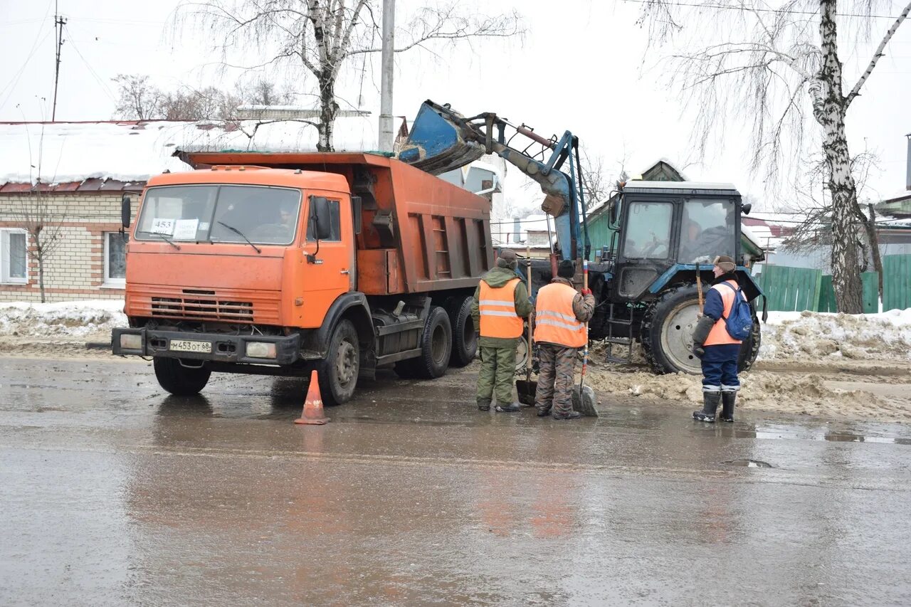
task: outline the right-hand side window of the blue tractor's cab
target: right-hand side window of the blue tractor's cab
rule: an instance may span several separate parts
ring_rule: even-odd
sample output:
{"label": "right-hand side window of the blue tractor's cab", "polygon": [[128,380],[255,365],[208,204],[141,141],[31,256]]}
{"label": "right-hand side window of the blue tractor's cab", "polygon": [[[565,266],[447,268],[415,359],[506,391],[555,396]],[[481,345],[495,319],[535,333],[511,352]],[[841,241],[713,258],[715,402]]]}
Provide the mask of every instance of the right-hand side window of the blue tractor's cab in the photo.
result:
{"label": "right-hand side window of the blue tractor's cab", "polygon": [[684,202],[678,261],[711,263],[715,255],[734,256],[734,202]]}

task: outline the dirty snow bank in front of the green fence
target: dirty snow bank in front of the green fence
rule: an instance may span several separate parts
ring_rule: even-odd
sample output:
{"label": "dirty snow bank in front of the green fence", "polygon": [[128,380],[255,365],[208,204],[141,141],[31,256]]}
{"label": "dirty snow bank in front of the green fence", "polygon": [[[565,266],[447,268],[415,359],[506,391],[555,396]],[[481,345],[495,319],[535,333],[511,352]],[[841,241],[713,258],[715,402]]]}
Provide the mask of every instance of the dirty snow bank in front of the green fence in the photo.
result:
{"label": "dirty snow bank in front of the green fence", "polygon": [[911,308],[882,314],[773,312],[761,360],[911,359]]}

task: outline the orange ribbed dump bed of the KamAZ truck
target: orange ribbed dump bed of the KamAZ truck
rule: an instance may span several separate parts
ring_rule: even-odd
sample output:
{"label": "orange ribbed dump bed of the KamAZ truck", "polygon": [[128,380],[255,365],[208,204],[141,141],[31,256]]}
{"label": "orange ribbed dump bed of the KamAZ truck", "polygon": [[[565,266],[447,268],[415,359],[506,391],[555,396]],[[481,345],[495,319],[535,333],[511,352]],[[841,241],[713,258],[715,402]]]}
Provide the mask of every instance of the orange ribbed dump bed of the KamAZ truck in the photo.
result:
{"label": "orange ribbed dump bed of the KamAZ truck", "polygon": [[384,156],[325,152],[178,152],[195,169],[247,165],[342,174],[362,201],[358,291],[472,287],[493,266],[490,202]]}

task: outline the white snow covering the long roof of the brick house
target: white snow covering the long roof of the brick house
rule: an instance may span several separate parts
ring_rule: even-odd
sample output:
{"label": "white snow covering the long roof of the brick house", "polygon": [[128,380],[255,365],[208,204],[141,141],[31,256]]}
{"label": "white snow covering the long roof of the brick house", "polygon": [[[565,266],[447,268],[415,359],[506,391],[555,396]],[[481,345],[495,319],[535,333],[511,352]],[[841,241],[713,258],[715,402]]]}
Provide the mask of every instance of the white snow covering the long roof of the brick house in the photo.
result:
{"label": "white snow covering the long roof of the brick house", "polygon": [[[337,118],[334,126],[338,151],[376,149],[373,118]],[[0,183],[144,181],[164,170],[189,170],[171,157],[176,149],[315,151],[317,139],[316,127],[292,120],[5,123],[0,124]]]}

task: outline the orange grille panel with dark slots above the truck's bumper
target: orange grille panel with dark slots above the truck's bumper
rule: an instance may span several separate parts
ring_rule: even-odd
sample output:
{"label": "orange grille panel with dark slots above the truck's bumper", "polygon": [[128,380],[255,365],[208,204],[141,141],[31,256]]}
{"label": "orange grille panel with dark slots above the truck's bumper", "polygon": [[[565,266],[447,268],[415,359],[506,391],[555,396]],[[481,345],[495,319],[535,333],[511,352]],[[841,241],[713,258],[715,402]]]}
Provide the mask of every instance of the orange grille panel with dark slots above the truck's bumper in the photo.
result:
{"label": "orange grille panel with dark slots above the truck's bumper", "polygon": [[281,293],[131,285],[127,314],[222,323],[281,324]]}

